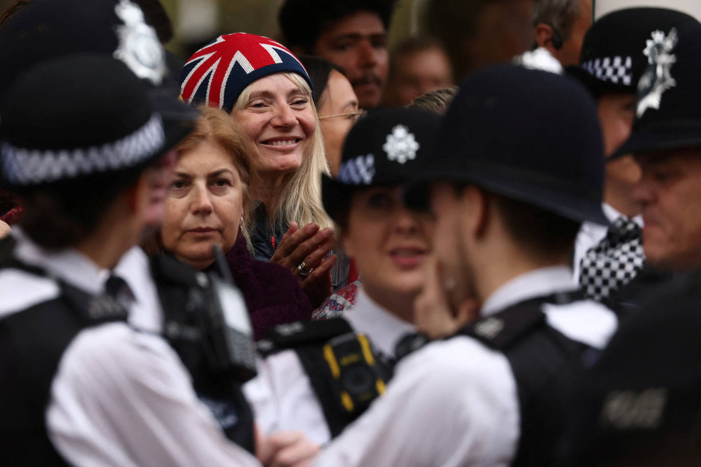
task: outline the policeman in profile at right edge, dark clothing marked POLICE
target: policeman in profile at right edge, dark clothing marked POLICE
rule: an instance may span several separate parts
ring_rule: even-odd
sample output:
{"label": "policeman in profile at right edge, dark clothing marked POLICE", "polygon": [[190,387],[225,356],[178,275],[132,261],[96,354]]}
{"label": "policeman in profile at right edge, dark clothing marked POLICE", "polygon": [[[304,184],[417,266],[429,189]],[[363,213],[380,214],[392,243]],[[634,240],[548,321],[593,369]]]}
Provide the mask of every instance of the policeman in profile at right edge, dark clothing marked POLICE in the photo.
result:
{"label": "policeman in profile at right edge, dark clothing marked POLICE", "polygon": [[621,152],[642,176],[646,260],[682,280],[620,328],[582,389],[578,465],[701,462],[701,26],[660,30],[638,85],[637,119]]}

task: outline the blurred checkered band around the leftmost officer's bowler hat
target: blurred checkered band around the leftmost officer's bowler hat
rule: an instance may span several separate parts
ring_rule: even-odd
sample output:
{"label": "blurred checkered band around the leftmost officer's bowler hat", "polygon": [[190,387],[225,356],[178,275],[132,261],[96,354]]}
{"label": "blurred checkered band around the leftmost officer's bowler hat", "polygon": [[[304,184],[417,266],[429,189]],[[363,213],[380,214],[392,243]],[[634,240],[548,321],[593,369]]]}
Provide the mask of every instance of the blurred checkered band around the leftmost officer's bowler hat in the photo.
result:
{"label": "blurred checkered band around the leftmost officer's bowler hat", "polygon": [[54,151],[18,148],[3,141],[0,154],[6,179],[25,186],[132,167],[154,155],[164,143],[163,121],[154,113],[132,134],[102,146]]}

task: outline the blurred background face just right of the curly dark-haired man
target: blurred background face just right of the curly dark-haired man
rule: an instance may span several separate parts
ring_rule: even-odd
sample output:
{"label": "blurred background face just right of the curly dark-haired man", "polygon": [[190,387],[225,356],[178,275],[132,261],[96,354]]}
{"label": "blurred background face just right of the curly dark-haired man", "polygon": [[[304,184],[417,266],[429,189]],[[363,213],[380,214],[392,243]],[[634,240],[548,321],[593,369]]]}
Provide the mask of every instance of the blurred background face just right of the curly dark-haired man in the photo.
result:
{"label": "blurred background face just right of the curly dark-haired man", "polygon": [[383,98],[389,107],[405,106],[426,92],[453,84],[453,70],[440,43],[410,37],[392,50],[390,74]]}

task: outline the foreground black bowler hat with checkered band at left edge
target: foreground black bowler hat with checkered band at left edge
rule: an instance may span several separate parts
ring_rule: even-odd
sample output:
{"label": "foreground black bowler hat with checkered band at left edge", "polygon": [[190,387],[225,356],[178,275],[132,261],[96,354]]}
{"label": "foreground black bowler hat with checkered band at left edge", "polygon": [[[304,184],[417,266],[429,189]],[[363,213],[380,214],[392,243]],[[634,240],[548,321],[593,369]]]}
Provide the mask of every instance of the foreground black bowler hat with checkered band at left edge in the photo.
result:
{"label": "foreground black bowler hat with checkered band at left edge", "polygon": [[191,125],[164,125],[147,95],[142,80],[105,55],[70,55],[32,67],[0,109],[6,182],[26,191],[147,167],[191,131]]}

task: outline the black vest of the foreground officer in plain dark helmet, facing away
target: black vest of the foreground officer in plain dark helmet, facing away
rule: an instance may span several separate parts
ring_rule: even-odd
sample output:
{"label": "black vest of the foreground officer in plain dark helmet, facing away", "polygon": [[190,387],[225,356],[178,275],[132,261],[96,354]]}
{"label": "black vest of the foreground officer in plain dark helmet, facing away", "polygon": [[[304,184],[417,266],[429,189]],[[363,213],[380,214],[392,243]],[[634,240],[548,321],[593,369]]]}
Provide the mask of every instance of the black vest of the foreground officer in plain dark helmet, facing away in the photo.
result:
{"label": "black vest of the foreground officer in plain dark helmet, facing away", "polygon": [[587,346],[548,326],[543,305],[582,298],[580,292],[533,298],[470,323],[458,333],[503,352],[510,363],[521,419],[515,466],[535,465],[535,459],[538,465],[554,463],[569,390]]}

